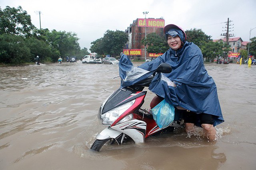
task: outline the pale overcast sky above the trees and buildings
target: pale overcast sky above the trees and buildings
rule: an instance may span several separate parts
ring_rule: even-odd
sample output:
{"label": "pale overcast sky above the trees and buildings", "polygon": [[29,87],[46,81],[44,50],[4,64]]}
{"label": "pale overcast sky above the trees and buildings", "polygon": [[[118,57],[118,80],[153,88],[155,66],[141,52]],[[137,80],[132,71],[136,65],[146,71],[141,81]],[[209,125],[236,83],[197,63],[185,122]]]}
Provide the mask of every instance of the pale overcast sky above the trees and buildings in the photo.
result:
{"label": "pale overcast sky above the trees and buildings", "polygon": [[41,18],[42,29],[76,33],[81,49],[88,51],[107,30],[125,31],[145,17],[162,17],[165,25],[173,23],[185,31],[202,29],[211,39],[223,38],[229,18],[234,37],[256,37],[256,0],[0,0],[0,8],[6,6],[21,6],[38,29]]}

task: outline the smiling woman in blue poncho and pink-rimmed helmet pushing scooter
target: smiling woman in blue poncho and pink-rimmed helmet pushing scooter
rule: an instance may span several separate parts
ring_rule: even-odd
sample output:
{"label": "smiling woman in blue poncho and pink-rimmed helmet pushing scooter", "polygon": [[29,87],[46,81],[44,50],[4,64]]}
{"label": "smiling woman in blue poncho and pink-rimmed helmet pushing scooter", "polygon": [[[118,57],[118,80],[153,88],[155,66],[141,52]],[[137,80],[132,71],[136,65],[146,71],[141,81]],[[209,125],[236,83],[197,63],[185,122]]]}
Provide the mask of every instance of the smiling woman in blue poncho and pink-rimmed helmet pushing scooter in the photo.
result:
{"label": "smiling woman in blue poncho and pink-rimmed helmet pushing scooter", "polygon": [[161,100],[177,108],[178,115],[184,117],[186,132],[193,131],[194,125],[201,126],[209,140],[215,140],[214,126],[224,121],[216,84],[208,75],[203,62],[202,52],[197,45],[186,41],[185,31],[174,24],[164,27],[170,47],[162,56],[139,66],[151,71],[161,63],[172,66],[172,72],[165,74],[174,86],[160,81],[152,82],[149,90],[157,94],[150,107]]}

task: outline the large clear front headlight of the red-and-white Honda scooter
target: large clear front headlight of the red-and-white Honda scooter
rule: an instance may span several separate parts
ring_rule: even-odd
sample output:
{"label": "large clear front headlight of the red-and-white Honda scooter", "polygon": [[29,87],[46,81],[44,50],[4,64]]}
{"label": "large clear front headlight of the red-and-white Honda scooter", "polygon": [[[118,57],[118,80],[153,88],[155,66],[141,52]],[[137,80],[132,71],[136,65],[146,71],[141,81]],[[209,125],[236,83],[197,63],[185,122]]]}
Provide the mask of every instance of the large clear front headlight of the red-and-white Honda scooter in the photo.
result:
{"label": "large clear front headlight of the red-and-white Honda scooter", "polygon": [[[127,102],[121,106],[115,107],[114,109],[107,111],[101,115],[102,123],[106,125],[112,125],[116,119],[122,115],[127,109],[129,109],[135,102],[135,99]],[[122,121],[122,120],[121,120]]]}

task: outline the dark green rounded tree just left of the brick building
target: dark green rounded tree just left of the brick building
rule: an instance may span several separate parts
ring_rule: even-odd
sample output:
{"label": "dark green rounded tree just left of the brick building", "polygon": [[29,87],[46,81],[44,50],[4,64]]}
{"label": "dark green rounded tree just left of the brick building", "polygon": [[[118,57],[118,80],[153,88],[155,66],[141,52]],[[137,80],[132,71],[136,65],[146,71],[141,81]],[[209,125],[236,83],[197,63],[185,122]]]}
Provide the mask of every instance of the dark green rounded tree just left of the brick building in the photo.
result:
{"label": "dark green rounded tree just left of the brick building", "polygon": [[97,39],[91,43],[90,51],[98,53],[99,55],[110,54],[116,57],[122,51],[127,40],[128,36],[124,31],[107,30],[103,38]]}

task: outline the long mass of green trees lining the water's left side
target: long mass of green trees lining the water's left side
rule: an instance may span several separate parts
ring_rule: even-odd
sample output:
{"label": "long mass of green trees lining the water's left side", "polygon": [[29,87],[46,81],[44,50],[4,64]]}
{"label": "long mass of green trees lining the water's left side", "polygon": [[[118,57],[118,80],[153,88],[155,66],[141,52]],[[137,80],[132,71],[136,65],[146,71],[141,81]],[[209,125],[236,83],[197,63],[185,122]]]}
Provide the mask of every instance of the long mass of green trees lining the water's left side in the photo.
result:
{"label": "long mass of green trees lining the water's left side", "polygon": [[0,40],[0,62],[7,64],[31,62],[36,55],[41,61],[56,62],[59,56],[88,53],[80,50],[76,33],[35,29],[21,6],[0,8]]}

